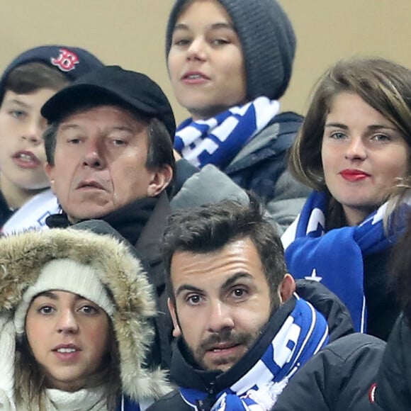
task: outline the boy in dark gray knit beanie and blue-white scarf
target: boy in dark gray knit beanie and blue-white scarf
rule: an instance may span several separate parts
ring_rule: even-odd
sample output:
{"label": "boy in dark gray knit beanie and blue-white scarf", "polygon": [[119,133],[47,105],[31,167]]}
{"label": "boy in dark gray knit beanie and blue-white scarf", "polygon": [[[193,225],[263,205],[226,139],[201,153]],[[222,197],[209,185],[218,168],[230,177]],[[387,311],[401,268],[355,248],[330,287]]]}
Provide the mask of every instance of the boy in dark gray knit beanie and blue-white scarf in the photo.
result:
{"label": "boy in dark gray knit beanie and blue-white scarf", "polygon": [[[257,193],[286,228],[308,195],[285,170],[302,121],[280,113],[278,102],[295,54],[286,13],[276,0],[177,0],[166,54],[174,94],[191,114],[177,128],[176,151],[191,167],[213,164]],[[188,164],[185,171],[183,180]]]}

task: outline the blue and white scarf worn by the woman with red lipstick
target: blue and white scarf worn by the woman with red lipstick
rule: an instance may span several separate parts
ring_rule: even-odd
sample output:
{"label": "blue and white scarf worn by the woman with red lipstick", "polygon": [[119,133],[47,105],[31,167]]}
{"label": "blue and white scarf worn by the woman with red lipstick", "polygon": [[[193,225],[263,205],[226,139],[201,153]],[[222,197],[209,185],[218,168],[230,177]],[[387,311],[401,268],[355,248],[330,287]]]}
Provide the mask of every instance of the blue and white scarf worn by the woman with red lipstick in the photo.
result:
{"label": "blue and white scarf worn by the woman with red lipstick", "polygon": [[[405,219],[396,218],[396,226],[385,232],[385,203],[360,225],[324,235],[327,205],[326,194],[317,191],[305,202],[295,240],[286,248],[288,271],[294,278],[321,281],[347,305],[355,330],[366,332],[363,256],[393,246],[405,228]],[[407,203],[401,207],[410,208]]]}

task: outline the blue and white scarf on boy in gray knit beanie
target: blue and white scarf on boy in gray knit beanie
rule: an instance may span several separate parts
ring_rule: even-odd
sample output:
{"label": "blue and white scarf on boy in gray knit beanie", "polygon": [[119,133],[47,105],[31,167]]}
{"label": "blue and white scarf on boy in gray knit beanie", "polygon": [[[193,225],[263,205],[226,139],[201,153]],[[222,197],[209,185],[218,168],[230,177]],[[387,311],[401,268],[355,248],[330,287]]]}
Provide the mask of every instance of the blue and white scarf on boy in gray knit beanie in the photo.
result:
{"label": "blue and white scarf on boy in gray knit beanie", "polygon": [[174,148],[196,167],[230,164],[249,140],[278,114],[280,103],[258,97],[207,120],[184,120],[176,130]]}

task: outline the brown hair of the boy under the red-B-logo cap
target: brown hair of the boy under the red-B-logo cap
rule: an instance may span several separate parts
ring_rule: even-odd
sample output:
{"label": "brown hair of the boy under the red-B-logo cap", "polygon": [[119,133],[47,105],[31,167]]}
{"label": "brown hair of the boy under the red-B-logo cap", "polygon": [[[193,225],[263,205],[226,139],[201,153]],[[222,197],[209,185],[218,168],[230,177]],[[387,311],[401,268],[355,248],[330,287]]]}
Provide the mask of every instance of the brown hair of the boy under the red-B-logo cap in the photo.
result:
{"label": "brown hair of the boy under the red-B-logo cap", "polygon": [[70,80],[58,69],[44,63],[30,62],[13,69],[4,83],[5,91],[30,94],[40,89],[63,89]]}

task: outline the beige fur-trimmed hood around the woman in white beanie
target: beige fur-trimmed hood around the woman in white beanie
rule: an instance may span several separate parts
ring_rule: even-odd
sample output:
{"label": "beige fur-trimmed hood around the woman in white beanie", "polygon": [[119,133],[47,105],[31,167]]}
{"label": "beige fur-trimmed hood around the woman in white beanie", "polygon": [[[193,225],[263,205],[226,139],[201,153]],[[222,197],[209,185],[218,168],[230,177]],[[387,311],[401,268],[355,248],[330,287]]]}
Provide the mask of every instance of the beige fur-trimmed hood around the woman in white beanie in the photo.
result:
{"label": "beige fur-trimmed hood around the woman in white beanie", "polygon": [[1,334],[10,326],[6,319],[13,319],[23,293],[45,263],[62,258],[94,267],[113,297],[123,394],[140,401],[167,393],[163,371],[145,368],[154,334],[154,291],[127,245],[108,235],[55,228],[0,238],[0,353]]}

